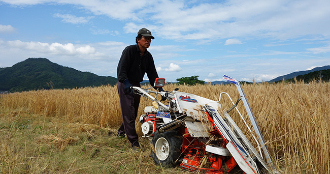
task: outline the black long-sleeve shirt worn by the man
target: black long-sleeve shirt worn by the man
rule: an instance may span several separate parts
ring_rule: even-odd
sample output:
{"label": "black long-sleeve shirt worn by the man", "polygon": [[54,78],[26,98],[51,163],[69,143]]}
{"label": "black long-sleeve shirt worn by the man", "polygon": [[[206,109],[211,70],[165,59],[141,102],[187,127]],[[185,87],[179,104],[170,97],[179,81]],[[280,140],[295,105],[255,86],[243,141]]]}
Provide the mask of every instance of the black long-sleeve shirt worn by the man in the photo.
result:
{"label": "black long-sleeve shirt worn by the man", "polygon": [[147,73],[150,84],[153,85],[158,74],[151,53],[146,49],[141,56],[139,45],[127,46],[118,63],[118,81],[123,82],[128,79],[130,82],[140,83],[143,81],[145,73]]}

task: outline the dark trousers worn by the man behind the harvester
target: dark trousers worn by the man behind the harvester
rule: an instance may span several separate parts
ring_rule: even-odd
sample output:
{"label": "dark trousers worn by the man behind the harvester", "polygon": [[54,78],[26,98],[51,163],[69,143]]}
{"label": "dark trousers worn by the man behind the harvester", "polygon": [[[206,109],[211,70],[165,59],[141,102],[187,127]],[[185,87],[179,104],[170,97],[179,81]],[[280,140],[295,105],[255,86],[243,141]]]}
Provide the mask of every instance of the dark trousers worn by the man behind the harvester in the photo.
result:
{"label": "dark trousers worn by the man behind the harvester", "polygon": [[[140,83],[131,83],[134,86],[139,86]],[[140,147],[139,145],[139,136],[135,129],[135,120],[137,119],[138,109],[140,104],[140,95],[137,94],[125,94],[124,92],[124,83],[117,83],[120,108],[121,108],[121,117],[122,124],[118,129],[118,134],[126,134],[127,139],[132,146]]]}

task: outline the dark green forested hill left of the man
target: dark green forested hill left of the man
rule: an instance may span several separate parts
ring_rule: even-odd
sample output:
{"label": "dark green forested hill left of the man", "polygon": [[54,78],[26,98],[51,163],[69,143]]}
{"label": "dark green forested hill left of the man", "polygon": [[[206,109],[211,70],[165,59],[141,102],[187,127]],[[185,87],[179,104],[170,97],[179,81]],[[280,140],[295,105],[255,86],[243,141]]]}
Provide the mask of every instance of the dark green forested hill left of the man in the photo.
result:
{"label": "dark green forested hill left of the man", "polygon": [[81,72],[45,58],[29,58],[12,67],[0,68],[0,91],[72,89],[116,83],[114,77]]}

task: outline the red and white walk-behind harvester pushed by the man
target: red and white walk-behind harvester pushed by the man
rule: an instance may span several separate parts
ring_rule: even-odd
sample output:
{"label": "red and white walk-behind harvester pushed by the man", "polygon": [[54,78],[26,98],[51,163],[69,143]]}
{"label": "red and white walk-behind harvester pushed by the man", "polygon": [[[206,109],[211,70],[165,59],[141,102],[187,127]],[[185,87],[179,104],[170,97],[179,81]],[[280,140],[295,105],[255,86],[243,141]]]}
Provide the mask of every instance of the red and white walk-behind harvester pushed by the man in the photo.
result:
{"label": "red and white walk-behind harvester pushed by the man", "polygon": [[[136,94],[152,101],[152,106],[145,107],[140,117],[144,137],[151,139],[151,156],[163,167],[180,164],[190,171],[277,173],[239,81],[226,75],[223,78],[237,86],[240,97],[236,103],[224,92],[220,93],[218,101],[213,101],[178,89],[172,92],[149,90],[163,87],[164,78],[157,78],[149,89],[132,87]],[[166,97],[167,104],[157,100],[157,95]],[[222,95],[227,95],[233,107],[219,113]],[[240,100],[254,133],[236,107]],[[237,125],[230,117],[233,109],[251,132],[257,150],[239,128],[242,125]]]}

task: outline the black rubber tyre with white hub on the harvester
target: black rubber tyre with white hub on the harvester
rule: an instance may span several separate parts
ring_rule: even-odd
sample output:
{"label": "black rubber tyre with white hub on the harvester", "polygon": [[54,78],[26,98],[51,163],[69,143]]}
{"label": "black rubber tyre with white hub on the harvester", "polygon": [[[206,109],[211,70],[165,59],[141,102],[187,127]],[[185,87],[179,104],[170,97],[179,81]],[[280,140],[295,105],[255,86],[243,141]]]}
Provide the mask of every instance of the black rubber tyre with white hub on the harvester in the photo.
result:
{"label": "black rubber tyre with white hub on the harvester", "polygon": [[157,165],[171,167],[181,162],[182,137],[176,131],[155,132],[151,143],[151,156]]}

